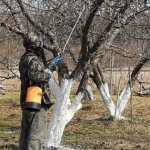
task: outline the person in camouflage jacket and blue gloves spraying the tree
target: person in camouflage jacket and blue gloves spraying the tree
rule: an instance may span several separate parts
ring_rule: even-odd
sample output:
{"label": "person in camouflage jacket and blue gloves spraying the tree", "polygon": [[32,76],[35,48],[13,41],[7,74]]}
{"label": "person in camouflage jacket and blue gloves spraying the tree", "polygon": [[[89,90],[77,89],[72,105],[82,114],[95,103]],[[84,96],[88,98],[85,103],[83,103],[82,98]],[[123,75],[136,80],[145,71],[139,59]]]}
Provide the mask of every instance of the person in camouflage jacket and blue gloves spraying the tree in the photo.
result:
{"label": "person in camouflage jacket and blue gloves spraying the tree", "polygon": [[[41,150],[47,129],[47,109],[52,105],[48,88],[51,70],[45,67],[43,44],[37,36],[32,33],[24,39],[23,45],[26,52],[22,55],[19,64],[22,107],[19,147],[20,150]],[[30,86],[38,86],[42,89],[40,110],[25,107],[27,89]]]}

